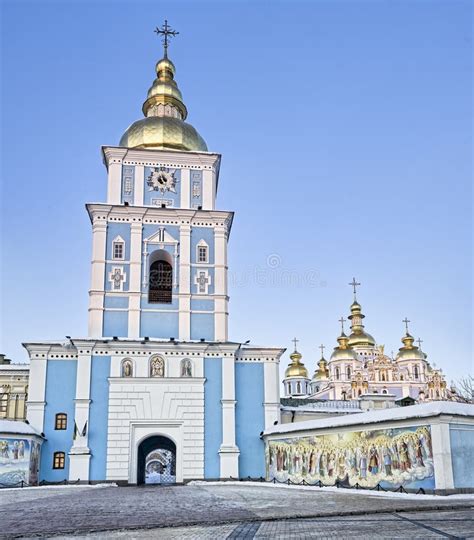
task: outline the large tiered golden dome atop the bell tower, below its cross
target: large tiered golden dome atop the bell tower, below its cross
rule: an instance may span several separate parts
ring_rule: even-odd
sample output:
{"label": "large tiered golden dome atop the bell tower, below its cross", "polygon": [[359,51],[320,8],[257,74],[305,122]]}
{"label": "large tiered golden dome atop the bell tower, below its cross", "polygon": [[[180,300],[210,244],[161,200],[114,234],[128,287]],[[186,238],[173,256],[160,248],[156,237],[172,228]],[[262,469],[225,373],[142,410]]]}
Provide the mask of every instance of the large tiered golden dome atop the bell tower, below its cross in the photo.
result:
{"label": "large tiered golden dome atop the bell tower, below its cross", "polygon": [[184,121],[188,111],[174,80],[175,72],[173,62],[166,57],[156,64],[157,76],[142,107],[145,118],[125,131],[120,146],[207,152],[204,139]]}

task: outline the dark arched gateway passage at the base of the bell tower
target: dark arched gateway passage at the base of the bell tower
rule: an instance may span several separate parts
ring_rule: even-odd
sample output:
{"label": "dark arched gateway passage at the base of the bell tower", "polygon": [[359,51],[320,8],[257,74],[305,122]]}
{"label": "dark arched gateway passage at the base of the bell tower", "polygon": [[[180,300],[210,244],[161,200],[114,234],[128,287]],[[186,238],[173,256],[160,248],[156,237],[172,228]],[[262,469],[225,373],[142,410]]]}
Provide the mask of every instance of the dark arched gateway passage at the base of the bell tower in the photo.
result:
{"label": "dark arched gateway passage at the base of the bell tower", "polygon": [[176,445],[162,435],[153,435],[138,447],[138,484],[176,482]]}

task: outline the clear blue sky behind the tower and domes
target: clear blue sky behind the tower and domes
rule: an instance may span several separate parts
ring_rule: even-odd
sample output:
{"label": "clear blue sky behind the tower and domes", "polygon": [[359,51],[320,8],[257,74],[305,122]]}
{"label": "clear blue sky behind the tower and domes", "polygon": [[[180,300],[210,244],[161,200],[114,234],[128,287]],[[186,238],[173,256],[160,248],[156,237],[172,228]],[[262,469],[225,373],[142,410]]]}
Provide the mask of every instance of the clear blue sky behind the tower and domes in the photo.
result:
{"label": "clear blue sky behind the tower and domes", "polygon": [[[448,380],[472,363],[468,1],[3,2],[2,340],[87,331],[100,146],[141,117],[168,18],[189,121],[222,153],[230,337],[312,371],[362,282],[366,329],[402,319]],[[282,368],[287,364],[287,356]]]}

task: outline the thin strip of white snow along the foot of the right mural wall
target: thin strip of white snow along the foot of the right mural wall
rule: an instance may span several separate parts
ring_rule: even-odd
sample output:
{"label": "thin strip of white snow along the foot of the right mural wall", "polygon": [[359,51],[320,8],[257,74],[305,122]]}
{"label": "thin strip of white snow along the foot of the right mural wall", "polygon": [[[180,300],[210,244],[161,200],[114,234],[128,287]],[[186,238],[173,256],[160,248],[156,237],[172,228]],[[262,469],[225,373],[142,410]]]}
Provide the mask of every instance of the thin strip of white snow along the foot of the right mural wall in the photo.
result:
{"label": "thin strip of white snow along the foot of the right mural wall", "polygon": [[272,484],[270,482],[249,482],[249,481],[223,481],[223,482],[205,482],[203,480],[194,480],[192,482],[189,482],[188,485],[191,486],[224,486],[224,485],[230,485],[230,486],[253,486],[253,487],[267,487],[267,488],[277,488],[277,489],[304,489],[304,490],[310,490],[310,491],[330,491],[332,493],[338,492],[341,494],[348,494],[348,495],[363,495],[365,497],[390,497],[390,498],[401,498],[401,499],[412,499],[417,501],[428,501],[428,500],[436,500],[436,501],[451,501],[453,499],[462,499],[462,500],[473,500],[474,501],[474,493],[459,493],[456,495],[416,495],[415,493],[394,493],[394,492],[385,492],[385,491],[372,491],[367,489],[350,489],[350,488],[337,488],[334,486],[324,486],[322,488],[316,487],[316,486],[289,486],[288,484]]}

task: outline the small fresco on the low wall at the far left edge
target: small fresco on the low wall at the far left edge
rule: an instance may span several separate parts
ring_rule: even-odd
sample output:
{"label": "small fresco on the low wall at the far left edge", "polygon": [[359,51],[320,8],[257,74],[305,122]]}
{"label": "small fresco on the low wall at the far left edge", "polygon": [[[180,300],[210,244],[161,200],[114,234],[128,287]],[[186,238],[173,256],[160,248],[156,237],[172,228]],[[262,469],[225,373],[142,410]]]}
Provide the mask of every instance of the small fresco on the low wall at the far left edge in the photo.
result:
{"label": "small fresco on the low wall at the far left edge", "polygon": [[29,439],[0,438],[0,484],[38,483],[40,445]]}

